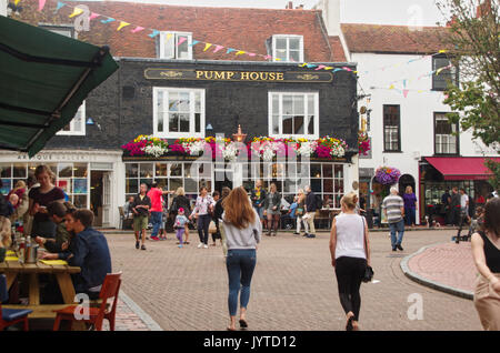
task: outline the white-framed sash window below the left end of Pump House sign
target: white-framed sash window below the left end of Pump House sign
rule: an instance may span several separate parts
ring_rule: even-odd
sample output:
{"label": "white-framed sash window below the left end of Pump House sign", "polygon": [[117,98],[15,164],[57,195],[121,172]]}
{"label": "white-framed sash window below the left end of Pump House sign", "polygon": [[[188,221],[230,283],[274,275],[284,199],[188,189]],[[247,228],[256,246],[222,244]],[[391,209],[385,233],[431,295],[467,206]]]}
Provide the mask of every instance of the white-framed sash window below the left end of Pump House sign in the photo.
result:
{"label": "white-framed sash window below the left end of Pump House sign", "polygon": [[162,138],[204,138],[204,90],[153,88],[153,133]]}

